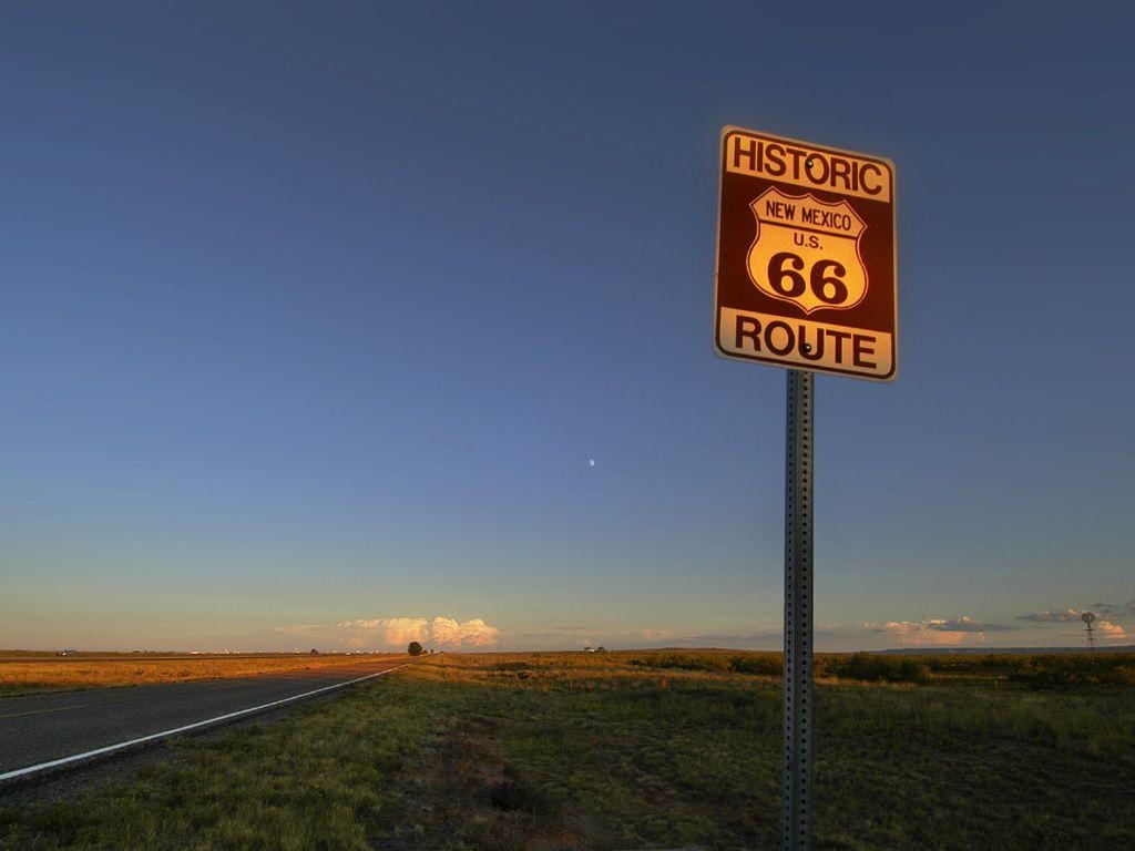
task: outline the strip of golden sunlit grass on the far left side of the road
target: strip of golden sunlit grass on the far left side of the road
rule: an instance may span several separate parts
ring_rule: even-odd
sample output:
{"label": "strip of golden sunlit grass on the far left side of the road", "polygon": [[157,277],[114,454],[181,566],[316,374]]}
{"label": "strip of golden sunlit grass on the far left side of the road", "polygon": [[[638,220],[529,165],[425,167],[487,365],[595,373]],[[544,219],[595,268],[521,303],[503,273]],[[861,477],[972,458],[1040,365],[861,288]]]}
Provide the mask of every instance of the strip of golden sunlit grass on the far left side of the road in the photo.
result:
{"label": "strip of golden sunlit grass on the far left side of the road", "polygon": [[67,657],[32,654],[0,655],[0,696],[27,691],[90,689],[287,674],[301,671],[404,659],[405,654],[320,655],[154,655],[91,654]]}

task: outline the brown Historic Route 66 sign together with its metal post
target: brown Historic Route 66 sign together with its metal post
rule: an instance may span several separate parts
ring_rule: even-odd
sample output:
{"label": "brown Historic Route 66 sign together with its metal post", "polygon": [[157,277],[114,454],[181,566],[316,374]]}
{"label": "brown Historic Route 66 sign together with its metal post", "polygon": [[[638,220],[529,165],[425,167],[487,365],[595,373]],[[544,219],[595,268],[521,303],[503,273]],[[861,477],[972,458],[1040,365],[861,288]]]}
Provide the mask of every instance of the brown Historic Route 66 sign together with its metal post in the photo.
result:
{"label": "brown Historic Route 66 sign together with its metal post", "polygon": [[721,134],[714,352],[788,369],[784,849],[812,848],[815,372],[898,371],[894,165],[762,130]]}

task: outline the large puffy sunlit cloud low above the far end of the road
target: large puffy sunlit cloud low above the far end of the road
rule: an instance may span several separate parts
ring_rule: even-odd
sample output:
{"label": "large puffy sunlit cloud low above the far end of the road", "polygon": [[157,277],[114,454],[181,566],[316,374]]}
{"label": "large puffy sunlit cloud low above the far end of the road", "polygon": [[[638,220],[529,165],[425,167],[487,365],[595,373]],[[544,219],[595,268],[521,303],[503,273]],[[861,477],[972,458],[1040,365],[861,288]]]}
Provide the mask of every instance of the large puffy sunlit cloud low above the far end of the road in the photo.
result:
{"label": "large puffy sunlit cloud low above the far end of the road", "polygon": [[276,632],[328,648],[404,650],[411,641],[445,650],[496,647],[499,630],[479,617],[360,617],[335,625],[279,626]]}

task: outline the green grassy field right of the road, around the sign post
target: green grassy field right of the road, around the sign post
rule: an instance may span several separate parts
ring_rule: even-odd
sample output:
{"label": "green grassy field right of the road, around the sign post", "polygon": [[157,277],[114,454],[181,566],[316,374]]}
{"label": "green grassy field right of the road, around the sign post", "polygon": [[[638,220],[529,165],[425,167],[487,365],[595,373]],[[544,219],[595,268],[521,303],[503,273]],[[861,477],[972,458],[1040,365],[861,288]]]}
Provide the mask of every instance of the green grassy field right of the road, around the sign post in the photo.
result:
{"label": "green grassy field right of the road, around the sign post", "polygon": [[[822,656],[818,849],[1135,848],[1130,656]],[[779,657],[439,655],[0,848],[773,849]]]}

